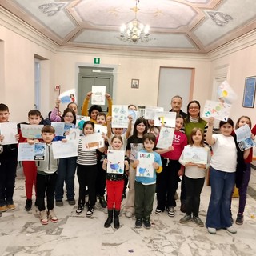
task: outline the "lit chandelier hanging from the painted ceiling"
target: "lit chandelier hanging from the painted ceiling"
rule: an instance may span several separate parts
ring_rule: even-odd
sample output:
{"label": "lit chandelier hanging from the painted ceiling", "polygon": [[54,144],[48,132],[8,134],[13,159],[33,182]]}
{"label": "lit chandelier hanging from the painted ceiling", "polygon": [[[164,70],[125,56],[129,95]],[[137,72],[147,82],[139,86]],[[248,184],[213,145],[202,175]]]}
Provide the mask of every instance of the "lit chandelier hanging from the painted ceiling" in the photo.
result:
{"label": "lit chandelier hanging from the painted ceiling", "polygon": [[150,36],[150,26],[146,25],[144,26],[142,23],[138,22],[137,20],[137,13],[138,13],[138,2],[136,1],[136,6],[134,7],[134,13],[135,18],[133,21],[131,21],[127,26],[125,24],[122,24],[120,27],[120,39],[124,42],[149,42],[149,36]]}

